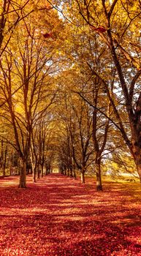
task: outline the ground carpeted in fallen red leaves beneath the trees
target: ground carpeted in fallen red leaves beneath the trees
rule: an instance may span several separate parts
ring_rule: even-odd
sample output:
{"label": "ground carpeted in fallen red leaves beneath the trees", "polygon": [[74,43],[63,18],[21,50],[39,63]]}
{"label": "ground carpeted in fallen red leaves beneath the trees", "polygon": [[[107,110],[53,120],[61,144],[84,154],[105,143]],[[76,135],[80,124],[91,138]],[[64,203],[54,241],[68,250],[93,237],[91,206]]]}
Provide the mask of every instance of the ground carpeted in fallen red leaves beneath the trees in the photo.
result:
{"label": "ground carpeted in fallen red leaves beneath the trees", "polygon": [[141,255],[140,184],[104,184],[52,174],[18,189],[0,179],[0,255]]}

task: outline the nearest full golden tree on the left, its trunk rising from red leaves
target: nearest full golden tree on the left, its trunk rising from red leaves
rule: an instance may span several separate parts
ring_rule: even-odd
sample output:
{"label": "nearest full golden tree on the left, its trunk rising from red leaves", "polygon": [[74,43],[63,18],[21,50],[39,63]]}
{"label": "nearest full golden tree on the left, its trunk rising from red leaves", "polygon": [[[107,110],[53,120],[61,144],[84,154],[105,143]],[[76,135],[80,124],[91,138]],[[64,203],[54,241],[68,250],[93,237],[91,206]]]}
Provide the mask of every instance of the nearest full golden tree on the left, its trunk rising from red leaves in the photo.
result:
{"label": "nearest full golden tree on the left, its trunk rising from red leaves", "polygon": [[[10,122],[15,134],[15,148],[22,162],[20,187],[26,187],[26,163],[31,147],[31,136],[39,118],[45,115],[53,103],[56,90],[53,88],[52,48],[42,48],[44,41],[19,31],[18,51],[8,49],[0,63],[1,105],[7,112],[4,118]],[[22,37],[19,37],[19,36]],[[26,36],[26,39],[24,39]],[[54,89],[54,91],[53,91]]]}

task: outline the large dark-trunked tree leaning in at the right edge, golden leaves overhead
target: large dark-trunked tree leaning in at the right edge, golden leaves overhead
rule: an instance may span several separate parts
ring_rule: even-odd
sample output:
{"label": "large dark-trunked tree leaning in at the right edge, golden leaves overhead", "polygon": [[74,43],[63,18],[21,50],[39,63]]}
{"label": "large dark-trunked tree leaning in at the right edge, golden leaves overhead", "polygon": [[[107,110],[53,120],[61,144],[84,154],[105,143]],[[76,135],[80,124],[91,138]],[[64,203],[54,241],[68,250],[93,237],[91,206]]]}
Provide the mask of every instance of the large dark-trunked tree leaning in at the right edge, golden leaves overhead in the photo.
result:
{"label": "large dark-trunked tree leaning in at the right edge, golden leaves overhead", "polygon": [[[74,7],[76,11],[72,14]],[[96,50],[101,49],[100,45],[106,46],[109,61],[104,66],[100,61],[102,69],[96,69],[87,62],[88,69],[101,81],[107,93],[113,108],[113,121],[129,147],[141,181],[140,29],[135,29],[140,27],[140,1],[76,0],[69,2],[66,9],[68,13],[71,12],[69,19],[76,20],[79,26],[85,28],[86,33],[91,33],[91,37],[95,34],[99,37]],[[113,94],[111,67],[115,69]],[[121,97],[118,105],[117,97]],[[126,112],[128,124],[119,111],[121,105]]]}

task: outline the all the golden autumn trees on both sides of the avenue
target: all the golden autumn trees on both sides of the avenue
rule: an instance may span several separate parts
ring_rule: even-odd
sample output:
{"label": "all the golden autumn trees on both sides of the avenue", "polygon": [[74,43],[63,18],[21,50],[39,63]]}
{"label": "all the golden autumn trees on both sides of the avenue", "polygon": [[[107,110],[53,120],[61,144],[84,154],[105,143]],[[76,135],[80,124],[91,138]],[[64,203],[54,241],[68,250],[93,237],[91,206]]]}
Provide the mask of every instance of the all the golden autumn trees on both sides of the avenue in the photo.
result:
{"label": "all the golden autumn trees on both sides of the avenue", "polygon": [[122,152],[141,179],[140,0],[2,4],[1,148],[18,152],[20,187],[29,158],[35,181],[55,155],[82,182],[93,169],[97,190]]}

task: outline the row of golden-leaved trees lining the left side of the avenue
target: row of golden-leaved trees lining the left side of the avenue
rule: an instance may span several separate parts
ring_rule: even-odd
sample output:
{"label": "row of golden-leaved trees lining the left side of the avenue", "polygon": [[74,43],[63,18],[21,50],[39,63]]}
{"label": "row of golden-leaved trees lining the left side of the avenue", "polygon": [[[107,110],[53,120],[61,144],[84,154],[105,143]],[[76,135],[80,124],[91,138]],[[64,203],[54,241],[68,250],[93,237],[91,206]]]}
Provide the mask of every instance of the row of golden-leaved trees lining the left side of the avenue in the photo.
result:
{"label": "row of golden-leaved trees lining the left side of the avenue", "polygon": [[[36,181],[39,168],[43,174],[45,161],[50,169],[47,158],[53,158],[50,127],[58,89],[52,74],[58,71],[56,29],[62,22],[52,9],[45,1],[3,1],[1,8],[1,152],[2,143],[17,151],[19,187],[26,187],[28,162]],[[44,37],[54,20],[56,44]]]}

